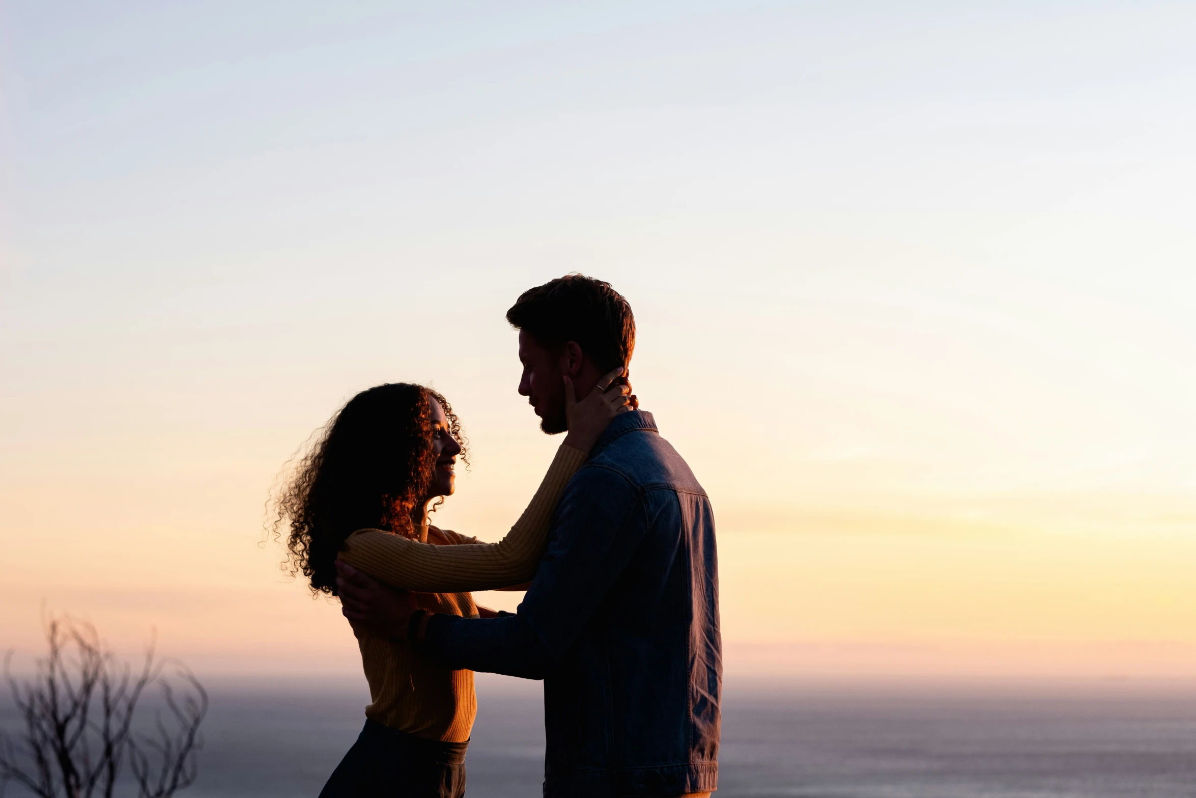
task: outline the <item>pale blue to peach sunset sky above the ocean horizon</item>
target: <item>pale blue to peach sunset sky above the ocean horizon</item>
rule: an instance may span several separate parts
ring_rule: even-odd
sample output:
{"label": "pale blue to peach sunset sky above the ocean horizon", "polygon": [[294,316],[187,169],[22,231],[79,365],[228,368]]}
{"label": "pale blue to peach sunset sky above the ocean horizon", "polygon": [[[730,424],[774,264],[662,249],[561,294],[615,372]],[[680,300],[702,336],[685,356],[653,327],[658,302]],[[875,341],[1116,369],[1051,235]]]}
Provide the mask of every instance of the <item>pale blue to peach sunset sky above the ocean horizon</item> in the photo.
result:
{"label": "pale blue to peach sunset sky above the ocean horizon", "polygon": [[1196,7],[987,5],[5,2],[0,647],[360,672],[271,485],[427,382],[500,537],[557,443],[504,312],[582,272],[730,672],[1196,676]]}

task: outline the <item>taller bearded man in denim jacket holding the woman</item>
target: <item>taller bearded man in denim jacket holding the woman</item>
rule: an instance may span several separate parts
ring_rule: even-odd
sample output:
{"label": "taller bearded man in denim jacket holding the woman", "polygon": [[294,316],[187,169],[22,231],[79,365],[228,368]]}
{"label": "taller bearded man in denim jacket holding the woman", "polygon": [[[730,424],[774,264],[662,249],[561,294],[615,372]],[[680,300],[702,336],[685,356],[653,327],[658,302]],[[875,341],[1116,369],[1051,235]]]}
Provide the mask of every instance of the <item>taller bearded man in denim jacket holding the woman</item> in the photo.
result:
{"label": "taller bearded man in denim jacket holding the woman", "polygon": [[[519,330],[519,392],[549,434],[567,428],[562,377],[582,398],[635,346],[627,300],[579,274],[525,292],[507,321]],[[718,787],[714,517],[651,413],[616,416],[573,476],[517,614],[428,614],[360,572],[342,574],[356,622],[405,636],[450,668],[544,681],[547,797]]]}

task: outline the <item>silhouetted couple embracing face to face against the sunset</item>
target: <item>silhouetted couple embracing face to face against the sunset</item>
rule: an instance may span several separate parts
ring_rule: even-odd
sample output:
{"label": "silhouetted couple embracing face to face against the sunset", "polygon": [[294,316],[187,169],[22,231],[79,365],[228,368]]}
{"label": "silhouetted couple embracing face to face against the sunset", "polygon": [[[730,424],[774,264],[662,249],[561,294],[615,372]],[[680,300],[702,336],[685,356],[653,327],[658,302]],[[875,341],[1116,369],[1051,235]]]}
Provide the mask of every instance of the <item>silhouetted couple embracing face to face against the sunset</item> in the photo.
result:
{"label": "silhouetted couple embracing face to face against the sunset", "polygon": [[[572,274],[507,311],[549,434],[566,432],[498,543],[428,524],[464,455],[422,385],[353,397],[280,501],[293,565],[341,598],[372,702],[321,798],[457,798],[474,671],[544,682],[544,794],[701,796],[718,786],[721,642],[714,518],[623,377],[627,300]],[[475,590],[527,590],[518,611]]]}

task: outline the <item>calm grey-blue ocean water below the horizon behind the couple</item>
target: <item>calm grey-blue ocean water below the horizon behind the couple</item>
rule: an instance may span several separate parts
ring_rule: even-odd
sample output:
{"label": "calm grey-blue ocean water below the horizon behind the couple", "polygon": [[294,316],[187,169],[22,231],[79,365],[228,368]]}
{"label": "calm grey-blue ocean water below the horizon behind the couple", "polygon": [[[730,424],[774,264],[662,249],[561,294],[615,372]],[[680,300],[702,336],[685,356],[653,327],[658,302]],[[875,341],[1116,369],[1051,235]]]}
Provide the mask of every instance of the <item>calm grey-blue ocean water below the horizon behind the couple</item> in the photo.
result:
{"label": "calm grey-blue ocean water below the horizon behind the couple", "polygon": [[[471,798],[541,794],[535,683],[481,681]],[[364,684],[212,689],[190,798],[319,793]],[[10,790],[10,796],[19,796]],[[1194,798],[1196,692],[728,687],[720,798]]]}

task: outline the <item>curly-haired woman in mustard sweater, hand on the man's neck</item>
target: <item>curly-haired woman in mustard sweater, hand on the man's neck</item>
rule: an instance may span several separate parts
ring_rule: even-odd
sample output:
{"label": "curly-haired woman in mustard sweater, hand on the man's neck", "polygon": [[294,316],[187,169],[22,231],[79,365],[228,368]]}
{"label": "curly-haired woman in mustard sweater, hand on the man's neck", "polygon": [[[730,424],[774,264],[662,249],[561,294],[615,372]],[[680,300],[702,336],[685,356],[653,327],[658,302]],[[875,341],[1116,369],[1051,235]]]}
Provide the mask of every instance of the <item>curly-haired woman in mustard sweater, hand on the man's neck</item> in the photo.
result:
{"label": "curly-haired woman in mustard sweater, hand on the man's neck", "polygon": [[[413,590],[422,585],[408,577],[419,572],[425,581],[448,585],[438,590],[460,591],[419,593],[421,607],[494,616],[466,591],[511,587],[535,573],[565,485],[610,420],[634,402],[626,385],[606,390],[620,373],[622,368],[599,380],[600,389],[584,401],[568,402],[568,435],[527,510],[494,544],[428,524],[433,502],[453,493],[456,458],[465,455],[448,402],[407,383],[358,394],[334,416],[279,498],[277,523],[289,528],[293,571],[309,578],[315,593],[330,596],[336,595],[338,555]],[[567,392],[572,396],[572,385]],[[472,671],[443,668],[390,638],[355,634],[371,703],[365,729],[321,798],[463,796],[477,706]]]}

